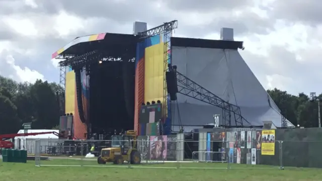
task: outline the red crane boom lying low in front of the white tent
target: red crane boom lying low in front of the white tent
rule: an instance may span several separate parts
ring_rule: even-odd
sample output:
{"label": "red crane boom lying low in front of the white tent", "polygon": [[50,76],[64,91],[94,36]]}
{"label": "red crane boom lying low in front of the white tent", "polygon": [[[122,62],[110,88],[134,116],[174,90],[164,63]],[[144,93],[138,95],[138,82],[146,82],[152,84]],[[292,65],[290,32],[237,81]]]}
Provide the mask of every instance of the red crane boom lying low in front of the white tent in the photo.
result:
{"label": "red crane boom lying low in front of the white tent", "polygon": [[0,135],[0,148],[13,148],[14,143],[11,141],[6,141],[7,139],[15,138],[17,136],[35,136],[42,134],[54,134],[60,137],[60,134],[54,131],[51,132],[39,132],[39,133],[15,133],[15,134],[3,134]]}

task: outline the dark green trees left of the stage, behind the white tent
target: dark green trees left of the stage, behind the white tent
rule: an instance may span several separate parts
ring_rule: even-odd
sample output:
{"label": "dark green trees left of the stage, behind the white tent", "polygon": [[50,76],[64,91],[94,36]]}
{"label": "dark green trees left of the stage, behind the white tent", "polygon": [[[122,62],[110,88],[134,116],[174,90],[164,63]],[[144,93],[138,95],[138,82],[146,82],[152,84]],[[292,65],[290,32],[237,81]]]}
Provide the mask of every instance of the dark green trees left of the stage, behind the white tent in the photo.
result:
{"label": "dark green trees left of the stage, behind the white tent", "polygon": [[32,129],[57,129],[63,95],[63,87],[54,82],[17,82],[0,76],[0,134],[17,133],[23,123],[32,123]]}

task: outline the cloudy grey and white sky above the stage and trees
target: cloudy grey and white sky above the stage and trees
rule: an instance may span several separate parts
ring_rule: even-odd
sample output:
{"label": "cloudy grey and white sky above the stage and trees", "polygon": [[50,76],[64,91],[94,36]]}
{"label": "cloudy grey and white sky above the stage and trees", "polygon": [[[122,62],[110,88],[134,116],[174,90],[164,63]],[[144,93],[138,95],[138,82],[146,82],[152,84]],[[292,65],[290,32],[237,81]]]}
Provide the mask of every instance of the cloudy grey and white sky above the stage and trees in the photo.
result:
{"label": "cloudy grey and white sky above the stage and trees", "polygon": [[0,0],[0,74],[58,81],[51,54],[73,38],[176,19],[178,37],[219,39],[221,27],[234,28],[265,88],[321,93],[321,9],[320,0]]}

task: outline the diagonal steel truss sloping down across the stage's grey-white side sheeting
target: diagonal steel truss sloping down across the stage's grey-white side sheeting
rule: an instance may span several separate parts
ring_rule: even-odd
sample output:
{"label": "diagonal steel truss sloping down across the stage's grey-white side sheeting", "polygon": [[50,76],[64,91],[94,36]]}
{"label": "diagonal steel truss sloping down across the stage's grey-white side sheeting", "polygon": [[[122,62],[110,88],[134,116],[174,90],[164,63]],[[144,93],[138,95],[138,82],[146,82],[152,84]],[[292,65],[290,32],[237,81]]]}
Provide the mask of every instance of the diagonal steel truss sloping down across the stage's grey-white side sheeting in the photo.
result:
{"label": "diagonal steel truss sloping down across the stage's grey-white side sheeting", "polygon": [[[240,108],[214,95],[206,88],[177,71],[178,93],[222,109],[223,127],[244,127],[251,124],[241,115]],[[233,114],[233,116],[232,116]],[[235,125],[231,124],[234,119]]]}

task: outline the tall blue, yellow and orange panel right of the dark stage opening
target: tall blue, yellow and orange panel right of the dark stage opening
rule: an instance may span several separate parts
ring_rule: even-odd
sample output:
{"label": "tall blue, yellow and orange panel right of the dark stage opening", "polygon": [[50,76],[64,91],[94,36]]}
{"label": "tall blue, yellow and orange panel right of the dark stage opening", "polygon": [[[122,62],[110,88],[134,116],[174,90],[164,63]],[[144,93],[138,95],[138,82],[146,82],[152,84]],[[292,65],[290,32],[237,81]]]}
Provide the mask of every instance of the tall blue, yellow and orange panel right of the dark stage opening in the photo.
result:
{"label": "tall blue, yellow and orange panel right of the dark stage opening", "polygon": [[[164,90],[164,35],[146,38],[137,44],[135,64],[135,113],[134,129],[138,129],[139,112],[142,103],[161,101]],[[170,50],[169,50],[170,51]],[[165,103],[169,105],[168,103]],[[167,118],[164,127],[170,128]],[[164,134],[170,134],[170,129]],[[140,135],[140,133],[139,133]]]}

